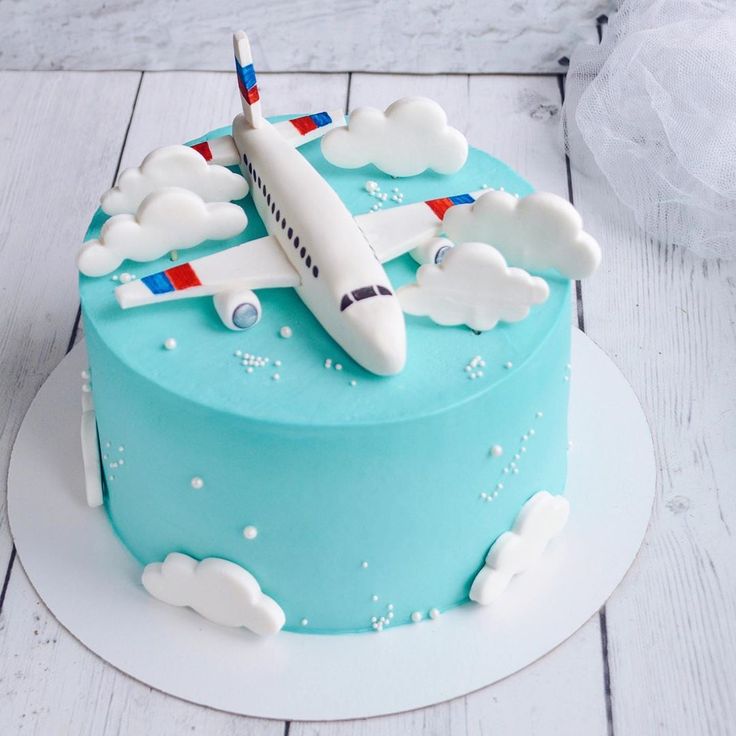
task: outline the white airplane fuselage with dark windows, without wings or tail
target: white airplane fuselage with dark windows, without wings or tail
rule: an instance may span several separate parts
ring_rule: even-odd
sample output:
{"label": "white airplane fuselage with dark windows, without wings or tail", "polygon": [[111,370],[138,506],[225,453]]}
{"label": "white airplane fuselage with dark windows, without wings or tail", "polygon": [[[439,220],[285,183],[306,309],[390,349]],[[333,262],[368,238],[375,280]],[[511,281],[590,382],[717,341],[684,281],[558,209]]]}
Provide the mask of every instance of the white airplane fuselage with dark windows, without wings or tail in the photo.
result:
{"label": "white airplane fuselage with dark windows, without wings or tail", "polygon": [[296,291],[359,364],[392,375],[406,328],[388,275],[337,193],[267,121],[238,115],[233,138],[258,214],[301,277]]}

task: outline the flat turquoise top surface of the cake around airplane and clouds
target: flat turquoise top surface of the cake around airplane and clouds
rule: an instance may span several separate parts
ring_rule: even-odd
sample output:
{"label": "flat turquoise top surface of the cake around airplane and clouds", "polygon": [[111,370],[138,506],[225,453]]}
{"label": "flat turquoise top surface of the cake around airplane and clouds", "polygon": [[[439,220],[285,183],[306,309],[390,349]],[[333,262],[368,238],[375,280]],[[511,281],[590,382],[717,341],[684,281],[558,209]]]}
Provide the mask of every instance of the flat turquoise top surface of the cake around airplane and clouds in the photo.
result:
{"label": "flat turquoise top surface of the cake around airplane and clouds", "polygon": [[[229,127],[222,128],[192,143],[229,132]],[[391,199],[395,190],[403,195],[404,204],[486,186],[521,197],[533,191],[504,163],[474,148],[456,174],[427,172],[405,179],[394,179],[372,166],[337,168],[324,159],[318,141],[302,146],[300,152],[354,215],[369,212],[376,202],[366,190],[367,180],[388,193],[382,203],[385,209],[398,206]],[[206,242],[182,254],[179,263],[267,235],[252,199],[237,204],[248,216],[245,232],[230,240]],[[98,210],[86,239],[97,237],[107,219]],[[544,274],[549,298],[532,308],[526,319],[501,322],[481,334],[407,315],[406,367],[398,375],[381,377],[357,365],[291,288],[261,289],[263,317],[245,332],[227,330],[209,297],[119,308],[113,290],[128,278],[124,274],[142,277],[171,265],[165,256],[149,263],[126,261],[106,277],[80,276],[87,333],[95,333],[125,365],[162,391],[267,423],[378,424],[444,411],[518,370],[556,320],[569,318],[569,281],[555,273]],[[415,280],[418,266],[404,255],[385,268],[396,289]]]}

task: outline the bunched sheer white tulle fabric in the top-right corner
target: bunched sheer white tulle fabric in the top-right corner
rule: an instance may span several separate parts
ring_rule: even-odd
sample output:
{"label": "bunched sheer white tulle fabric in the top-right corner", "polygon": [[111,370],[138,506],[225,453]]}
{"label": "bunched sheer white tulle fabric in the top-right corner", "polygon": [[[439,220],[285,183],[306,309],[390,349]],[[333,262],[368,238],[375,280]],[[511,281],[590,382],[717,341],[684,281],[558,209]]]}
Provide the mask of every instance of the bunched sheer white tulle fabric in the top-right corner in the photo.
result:
{"label": "bunched sheer white tulle fabric in the top-right corner", "polygon": [[564,120],[649,235],[736,258],[736,2],[624,0],[572,55]]}

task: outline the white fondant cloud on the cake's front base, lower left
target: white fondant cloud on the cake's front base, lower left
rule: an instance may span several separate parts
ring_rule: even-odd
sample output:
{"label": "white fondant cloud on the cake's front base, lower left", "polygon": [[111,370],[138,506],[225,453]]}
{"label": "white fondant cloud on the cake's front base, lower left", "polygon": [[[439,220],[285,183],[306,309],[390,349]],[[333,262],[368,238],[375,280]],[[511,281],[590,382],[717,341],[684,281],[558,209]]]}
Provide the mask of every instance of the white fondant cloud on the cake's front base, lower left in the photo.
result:
{"label": "white fondant cloud on the cake's front base, lower left", "polygon": [[244,626],[255,634],[275,634],[286,621],[281,607],[261,591],[258,581],[240,565],[218,557],[197,562],[172,552],[143,570],[143,587],[172,606],[189,606],[223,626]]}

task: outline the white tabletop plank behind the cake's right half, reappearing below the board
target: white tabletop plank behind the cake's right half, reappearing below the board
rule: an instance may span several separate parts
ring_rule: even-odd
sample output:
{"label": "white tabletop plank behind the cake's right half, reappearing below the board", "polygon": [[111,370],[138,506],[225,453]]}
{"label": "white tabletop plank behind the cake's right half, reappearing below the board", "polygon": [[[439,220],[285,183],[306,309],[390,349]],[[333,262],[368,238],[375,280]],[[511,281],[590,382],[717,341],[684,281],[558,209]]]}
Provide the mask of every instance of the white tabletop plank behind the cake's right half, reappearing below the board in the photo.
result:
{"label": "white tabletop plank behind the cake's right half, reappearing below the board", "polygon": [[[437,92],[439,91],[439,95]],[[350,107],[403,94],[442,101],[453,125],[539,188],[567,194],[554,78],[353,75]],[[462,662],[458,662],[462,666]],[[387,673],[390,677],[390,673]],[[397,683],[400,687],[400,683]],[[292,723],[290,736],[606,734],[598,617],[539,662],[464,698],[403,715],[343,723]]]}

